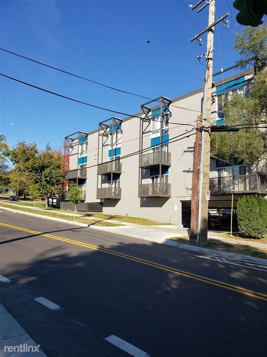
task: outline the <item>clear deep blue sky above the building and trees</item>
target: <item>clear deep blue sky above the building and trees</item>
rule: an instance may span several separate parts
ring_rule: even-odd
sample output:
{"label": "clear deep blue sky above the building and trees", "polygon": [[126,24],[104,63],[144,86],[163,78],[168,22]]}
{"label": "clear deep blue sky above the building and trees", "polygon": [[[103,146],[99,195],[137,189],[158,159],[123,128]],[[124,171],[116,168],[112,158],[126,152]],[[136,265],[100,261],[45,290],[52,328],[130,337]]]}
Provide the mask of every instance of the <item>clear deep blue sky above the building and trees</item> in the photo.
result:
{"label": "clear deep blue sky above the building and trees", "polygon": [[[201,87],[205,75],[194,51],[206,52],[206,35],[202,47],[190,39],[207,26],[208,7],[197,14],[184,5],[196,2],[1,0],[1,47],[149,98],[175,98]],[[223,23],[216,28],[214,72],[239,58],[233,51],[234,32],[242,26],[236,22],[232,2],[216,0],[216,18],[229,12],[231,25],[227,30]],[[147,101],[2,51],[0,56],[2,73],[93,105],[134,114]],[[36,142],[40,149],[47,142],[59,148],[66,135],[93,130],[99,121],[113,116],[7,78],[0,81],[0,132],[10,147],[25,140]]]}

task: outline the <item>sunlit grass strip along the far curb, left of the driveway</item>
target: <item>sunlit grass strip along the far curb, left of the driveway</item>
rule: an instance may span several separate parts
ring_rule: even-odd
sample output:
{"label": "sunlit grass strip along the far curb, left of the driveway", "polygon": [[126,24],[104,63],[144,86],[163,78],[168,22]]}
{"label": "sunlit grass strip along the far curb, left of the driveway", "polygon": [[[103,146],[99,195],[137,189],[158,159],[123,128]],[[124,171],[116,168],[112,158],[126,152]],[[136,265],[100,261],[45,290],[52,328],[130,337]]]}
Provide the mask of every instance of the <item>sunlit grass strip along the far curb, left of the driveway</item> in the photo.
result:
{"label": "sunlit grass strip along the far curb, left of the driveway", "polygon": [[74,219],[73,216],[67,216],[67,215],[60,214],[60,211],[56,212],[53,209],[47,209],[46,211],[40,211],[40,210],[33,210],[32,208],[25,208],[25,207],[20,207],[20,206],[15,206],[15,205],[9,205],[6,203],[1,203],[1,202],[0,202],[0,206],[6,207],[6,208],[12,208],[12,209],[22,211],[22,212],[35,213],[40,216],[61,218],[61,219],[67,220],[67,221],[86,223],[86,224],[93,225],[93,226],[101,226],[101,227],[118,227],[118,226],[120,226],[120,224],[117,224],[117,223],[106,222],[106,221],[102,222],[102,221],[94,220],[93,218],[90,219],[90,218],[83,218],[83,217],[76,216]]}

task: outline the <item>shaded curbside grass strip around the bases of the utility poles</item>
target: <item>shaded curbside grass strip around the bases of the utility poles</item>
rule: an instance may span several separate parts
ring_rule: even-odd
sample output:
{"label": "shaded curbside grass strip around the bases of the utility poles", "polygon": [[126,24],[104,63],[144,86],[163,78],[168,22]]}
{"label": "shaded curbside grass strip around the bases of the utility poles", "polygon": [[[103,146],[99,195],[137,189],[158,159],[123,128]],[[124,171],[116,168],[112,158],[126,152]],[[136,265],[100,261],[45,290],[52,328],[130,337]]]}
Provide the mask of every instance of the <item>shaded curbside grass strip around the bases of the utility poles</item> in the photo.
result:
{"label": "shaded curbside grass strip around the bases of the utility poles", "polygon": [[[185,236],[184,237],[174,237],[174,238],[170,238],[170,239],[174,240],[178,243],[189,244],[189,238],[185,237]],[[208,241],[208,245],[206,245],[205,248],[267,259],[267,249],[266,249],[265,244],[263,244],[262,248],[258,248],[258,247],[252,247],[250,245],[247,245],[245,242],[244,242],[244,244],[234,244],[234,243],[226,243],[226,242],[221,242],[221,241],[216,241],[216,242]]]}

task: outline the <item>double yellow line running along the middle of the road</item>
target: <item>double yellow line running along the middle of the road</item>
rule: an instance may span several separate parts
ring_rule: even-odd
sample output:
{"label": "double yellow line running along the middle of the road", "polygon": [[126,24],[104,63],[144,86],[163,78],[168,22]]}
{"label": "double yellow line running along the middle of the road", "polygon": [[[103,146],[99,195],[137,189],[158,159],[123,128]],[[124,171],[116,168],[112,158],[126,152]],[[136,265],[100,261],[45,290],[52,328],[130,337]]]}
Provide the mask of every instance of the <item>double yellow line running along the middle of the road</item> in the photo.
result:
{"label": "double yellow line running along the middle of the road", "polygon": [[100,252],[103,252],[103,253],[112,254],[112,255],[115,255],[115,256],[120,257],[120,258],[133,260],[133,261],[135,261],[137,263],[141,263],[141,264],[144,264],[144,265],[151,266],[153,268],[161,269],[161,270],[167,271],[169,273],[173,273],[173,274],[176,274],[176,275],[179,275],[179,276],[183,276],[185,278],[198,280],[198,281],[201,281],[203,283],[215,285],[215,286],[218,286],[218,287],[223,288],[223,289],[228,289],[228,290],[234,291],[236,293],[240,293],[240,294],[243,294],[243,295],[247,295],[247,296],[250,296],[250,297],[254,297],[254,298],[258,298],[258,299],[267,301],[267,295],[266,294],[258,293],[258,292],[255,292],[253,290],[245,289],[245,288],[242,288],[242,287],[239,287],[239,286],[236,286],[236,285],[228,284],[228,283],[222,282],[220,280],[215,280],[215,279],[207,278],[207,277],[204,277],[204,276],[201,276],[201,275],[189,273],[189,272],[186,272],[186,271],[183,271],[183,270],[179,270],[179,269],[176,269],[176,268],[169,267],[167,265],[155,263],[155,262],[152,262],[150,260],[141,259],[141,258],[135,257],[133,255],[116,252],[116,251],[113,251],[111,249],[106,249],[106,248],[103,248],[103,247],[99,247],[97,245],[84,243],[84,242],[81,242],[79,240],[61,238],[61,237],[57,237],[57,236],[54,236],[54,235],[50,235],[50,234],[46,234],[46,233],[42,233],[42,232],[37,232],[37,231],[33,231],[33,230],[26,229],[26,228],[5,224],[5,223],[0,223],[0,226],[12,228],[12,229],[15,229],[15,230],[18,230],[18,231],[22,231],[22,232],[32,233],[34,235],[43,236],[43,237],[50,238],[50,239],[60,240],[60,241],[63,241],[65,243],[69,243],[69,244],[79,245],[79,246],[82,246],[82,247],[85,247],[85,248],[88,248],[88,249],[91,249],[91,250],[96,250],[96,251],[100,251]]}

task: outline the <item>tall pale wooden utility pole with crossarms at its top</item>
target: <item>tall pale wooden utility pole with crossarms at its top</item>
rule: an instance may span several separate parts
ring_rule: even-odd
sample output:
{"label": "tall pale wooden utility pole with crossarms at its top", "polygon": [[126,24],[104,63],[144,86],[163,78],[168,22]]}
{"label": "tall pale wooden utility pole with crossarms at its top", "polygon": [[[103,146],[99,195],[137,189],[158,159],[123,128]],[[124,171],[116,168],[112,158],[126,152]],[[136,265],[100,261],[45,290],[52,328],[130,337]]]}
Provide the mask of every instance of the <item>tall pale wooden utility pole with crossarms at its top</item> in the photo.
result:
{"label": "tall pale wooden utility pole with crossarms at its top", "polygon": [[208,197],[210,184],[210,124],[211,124],[211,103],[212,103],[212,75],[213,75],[213,38],[214,26],[223,21],[229,14],[226,13],[220,19],[215,21],[215,0],[209,2],[199,0],[192,10],[200,4],[205,4],[197,10],[200,12],[209,5],[209,23],[208,27],[202,30],[199,34],[194,36],[190,42],[197,40],[201,35],[207,32],[207,53],[206,57],[206,78],[203,101],[203,126],[202,126],[202,145],[201,145],[201,165],[200,165],[200,179],[199,179],[199,209],[198,209],[198,229],[197,229],[197,244],[207,245],[208,242]]}

